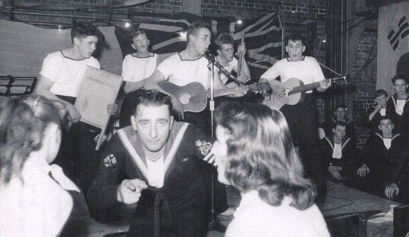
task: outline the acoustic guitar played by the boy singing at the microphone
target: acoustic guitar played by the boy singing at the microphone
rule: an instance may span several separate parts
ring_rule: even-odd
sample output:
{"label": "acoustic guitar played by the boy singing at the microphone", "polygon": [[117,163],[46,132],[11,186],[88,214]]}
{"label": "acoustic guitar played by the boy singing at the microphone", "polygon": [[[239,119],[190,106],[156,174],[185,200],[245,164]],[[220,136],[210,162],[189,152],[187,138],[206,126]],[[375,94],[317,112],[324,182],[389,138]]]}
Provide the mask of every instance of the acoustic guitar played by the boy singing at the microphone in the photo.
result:
{"label": "acoustic guitar played by the boy singing at the microphone", "polygon": [[[210,98],[210,91],[206,91],[205,87],[198,82],[189,83],[186,86],[176,86],[173,83],[163,81],[159,83],[159,86],[169,92],[171,95],[175,96],[180,103],[184,112],[200,112],[206,108],[208,98]],[[243,87],[247,91],[253,91],[256,93],[263,93],[270,90],[270,85],[268,83],[255,83]],[[236,91],[234,88],[226,88],[221,90],[214,90],[214,97],[232,95]]]}

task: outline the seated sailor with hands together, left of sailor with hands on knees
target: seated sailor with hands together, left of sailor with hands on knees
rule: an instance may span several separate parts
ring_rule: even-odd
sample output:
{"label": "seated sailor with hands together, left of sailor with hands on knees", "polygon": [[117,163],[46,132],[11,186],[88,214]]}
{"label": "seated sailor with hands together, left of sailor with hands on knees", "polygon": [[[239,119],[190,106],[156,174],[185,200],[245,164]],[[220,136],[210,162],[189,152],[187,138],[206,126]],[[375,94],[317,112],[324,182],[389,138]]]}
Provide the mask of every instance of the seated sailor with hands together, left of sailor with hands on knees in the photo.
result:
{"label": "seated sailor with hands together, left of sailor with hands on knees", "polygon": [[322,140],[322,152],[327,177],[352,185],[356,171],[356,151],[351,138],[347,135],[347,124],[337,121],[332,135]]}

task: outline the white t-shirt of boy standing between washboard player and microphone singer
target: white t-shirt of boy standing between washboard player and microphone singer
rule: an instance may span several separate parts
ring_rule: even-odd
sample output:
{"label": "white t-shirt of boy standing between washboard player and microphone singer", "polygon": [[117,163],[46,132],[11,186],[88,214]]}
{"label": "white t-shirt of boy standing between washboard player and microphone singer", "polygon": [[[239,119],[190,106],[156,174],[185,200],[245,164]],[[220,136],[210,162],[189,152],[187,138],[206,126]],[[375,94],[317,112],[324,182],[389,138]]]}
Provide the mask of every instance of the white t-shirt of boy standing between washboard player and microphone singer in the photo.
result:
{"label": "white t-shirt of boy standing between washboard player and microphone singer", "polygon": [[156,68],[157,54],[140,58],[131,54],[122,62],[122,77],[127,82],[140,82],[153,74]]}

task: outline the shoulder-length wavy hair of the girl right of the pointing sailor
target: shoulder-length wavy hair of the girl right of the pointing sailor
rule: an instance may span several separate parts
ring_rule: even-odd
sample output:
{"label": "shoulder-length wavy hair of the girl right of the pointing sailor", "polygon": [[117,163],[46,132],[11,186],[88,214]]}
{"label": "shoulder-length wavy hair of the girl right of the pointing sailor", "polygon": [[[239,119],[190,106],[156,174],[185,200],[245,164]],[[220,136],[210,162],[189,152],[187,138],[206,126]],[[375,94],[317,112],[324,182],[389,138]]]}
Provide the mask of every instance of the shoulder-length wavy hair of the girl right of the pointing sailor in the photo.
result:
{"label": "shoulder-length wavy hair of the girl right of the pointing sailor", "polygon": [[224,176],[241,193],[257,190],[273,206],[291,196],[303,210],[316,195],[304,177],[283,114],[261,104],[224,103],[216,109],[217,126],[226,130],[228,155]]}

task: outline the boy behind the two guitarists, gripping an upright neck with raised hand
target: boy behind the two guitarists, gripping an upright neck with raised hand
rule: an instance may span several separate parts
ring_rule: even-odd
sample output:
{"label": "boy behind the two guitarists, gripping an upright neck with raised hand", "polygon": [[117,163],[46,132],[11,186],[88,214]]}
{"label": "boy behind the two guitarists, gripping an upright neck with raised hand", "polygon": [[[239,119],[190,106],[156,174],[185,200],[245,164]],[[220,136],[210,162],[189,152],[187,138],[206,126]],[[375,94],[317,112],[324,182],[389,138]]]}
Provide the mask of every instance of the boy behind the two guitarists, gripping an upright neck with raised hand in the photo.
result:
{"label": "boy behind the two guitarists, gripping an upright neck with raised hand", "polygon": [[[233,37],[229,33],[221,33],[217,36],[216,40],[216,47],[217,47],[217,56],[216,62],[218,62],[224,69],[226,69],[229,73],[232,71],[237,73],[239,61],[234,57],[234,40]],[[237,79],[241,82],[247,82],[250,80],[250,69],[248,68],[247,62],[245,60],[245,52],[246,52],[246,45],[245,42],[239,45],[237,54],[243,54],[241,68],[243,73],[240,73],[237,76]],[[223,84],[227,85],[228,87],[235,87],[237,86],[236,82],[232,82],[226,84],[229,80],[229,76],[226,75],[225,72],[219,70],[220,80]]]}

